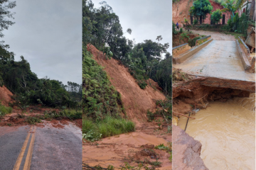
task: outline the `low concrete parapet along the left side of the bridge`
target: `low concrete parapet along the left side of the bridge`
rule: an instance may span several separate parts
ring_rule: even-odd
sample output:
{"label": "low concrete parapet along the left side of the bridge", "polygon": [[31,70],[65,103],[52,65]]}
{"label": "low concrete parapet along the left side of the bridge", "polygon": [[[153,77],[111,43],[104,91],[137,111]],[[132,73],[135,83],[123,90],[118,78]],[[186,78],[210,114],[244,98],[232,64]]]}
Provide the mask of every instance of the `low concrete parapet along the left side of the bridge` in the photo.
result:
{"label": "low concrete parapet along the left side of the bridge", "polygon": [[[197,45],[195,47],[191,48],[190,50],[186,50],[186,52],[182,52],[182,53],[179,53],[179,55],[174,56],[173,63],[179,64],[181,62],[184,62],[189,57],[196,54],[196,52],[200,51],[203,47],[206,47],[206,45],[208,45],[208,43],[213,41],[213,38],[211,38],[210,35],[207,37],[201,38],[201,39],[198,39],[199,41],[197,42]],[[174,48],[173,48],[173,50],[174,50]],[[174,54],[174,52],[173,52],[173,54]]]}

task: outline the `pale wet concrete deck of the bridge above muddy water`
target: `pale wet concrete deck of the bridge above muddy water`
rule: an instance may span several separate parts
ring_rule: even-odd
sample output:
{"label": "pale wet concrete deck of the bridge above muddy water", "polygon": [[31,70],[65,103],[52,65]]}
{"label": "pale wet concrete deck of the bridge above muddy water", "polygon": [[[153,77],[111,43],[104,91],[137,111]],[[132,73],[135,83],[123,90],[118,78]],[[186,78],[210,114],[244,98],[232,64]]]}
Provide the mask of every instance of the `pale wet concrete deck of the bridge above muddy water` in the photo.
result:
{"label": "pale wet concrete deck of the bridge above muddy water", "polygon": [[255,81],[255,74],[245,72],[235,41],[213,40],[185,62],[174,64],[174,67],[204,77]]}

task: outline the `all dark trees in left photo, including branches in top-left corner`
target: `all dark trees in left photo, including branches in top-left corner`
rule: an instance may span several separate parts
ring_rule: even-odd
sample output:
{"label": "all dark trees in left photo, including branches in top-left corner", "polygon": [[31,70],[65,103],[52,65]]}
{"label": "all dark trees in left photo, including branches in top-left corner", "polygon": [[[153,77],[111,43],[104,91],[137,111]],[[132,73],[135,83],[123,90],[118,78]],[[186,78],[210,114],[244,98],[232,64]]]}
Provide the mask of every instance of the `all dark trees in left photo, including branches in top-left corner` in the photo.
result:
{"label": "all dark trees in left photo, including branches in top-left corner", "polygon": [[[4,35],[2,30],[14,24],[6,20],[12,18],[14,13],[8,11],[14,8],[15,2],[8,0],[0,1],[0,37]],[[50,107],[71,107],[80,105],[82,98],[82,85],[68,82],[68,86],[61,81],[51,80],[48,77],[38,79],[37,75],[31,71],[30,64],[23,56],[21,60],[14,60],[14,52],[9,52],[9,45],[0,45],[0,86],[5,85],[13,94],[14,105],[26,109],[33,104],[41,104]]]}

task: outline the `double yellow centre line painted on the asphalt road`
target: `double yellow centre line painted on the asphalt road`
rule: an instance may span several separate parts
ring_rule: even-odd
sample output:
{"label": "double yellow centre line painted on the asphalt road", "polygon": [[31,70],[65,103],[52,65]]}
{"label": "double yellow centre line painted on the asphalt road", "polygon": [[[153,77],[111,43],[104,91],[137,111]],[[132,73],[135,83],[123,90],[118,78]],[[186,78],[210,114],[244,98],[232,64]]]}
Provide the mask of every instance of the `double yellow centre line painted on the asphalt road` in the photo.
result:
{"label": "double yellow centre line painted on the asphalt road", "polygon": [[20,154],[18,154],[18,158],[16,160],[16,164],[14,165],[13,170],[19,170],[20,169],[21,162],[23,160],[23,157],[25,157],[24,153],[26,151],[26,147],[28,145],[28,141],[29,141],[30,136],[31,136],[31,140],[30,140],[29,147],[28,147],[28,153],[26,154],[26,160],[25,160],[23,170],[29,170],[30,169],[32,153],[33,153],[33,145],[34,145],[34,142],[35,142],[35,135],[36,135],[35,132],[36,132],[36,126],[31,126],[31,128],[28,132],[28,135],[26,137],[26,140],[24,141],[23,146],[21,147],[21,152],[20,152]]}

